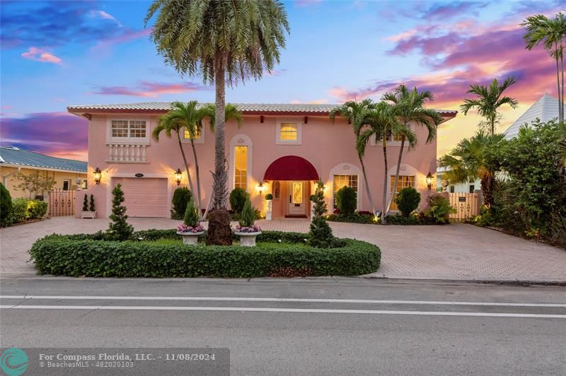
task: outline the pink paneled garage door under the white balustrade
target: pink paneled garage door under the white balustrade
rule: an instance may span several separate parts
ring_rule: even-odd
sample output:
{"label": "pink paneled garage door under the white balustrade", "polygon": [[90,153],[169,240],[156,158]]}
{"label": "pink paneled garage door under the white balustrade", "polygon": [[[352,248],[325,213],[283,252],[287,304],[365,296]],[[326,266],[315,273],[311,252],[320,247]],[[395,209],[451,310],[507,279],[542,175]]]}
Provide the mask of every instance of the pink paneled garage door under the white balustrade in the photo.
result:
{"label": "pink paneled garage door under the white balustrade", "polygon": [[167,179],[114,177],[114,187],[122,184],[124,206],[130,217],[168,217]]}

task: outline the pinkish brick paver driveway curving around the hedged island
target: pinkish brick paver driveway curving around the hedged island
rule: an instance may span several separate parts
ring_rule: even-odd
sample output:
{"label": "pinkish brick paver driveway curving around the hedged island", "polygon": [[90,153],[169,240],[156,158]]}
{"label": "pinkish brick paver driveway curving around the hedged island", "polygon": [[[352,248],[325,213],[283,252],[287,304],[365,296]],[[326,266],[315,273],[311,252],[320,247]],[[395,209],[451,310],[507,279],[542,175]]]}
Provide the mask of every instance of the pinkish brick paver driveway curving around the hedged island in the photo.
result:
{"label": "pinkish brick paver driveway curving around the hedged island", "polygon": [[[180,221],[130,218],[137,230],[175,228]],[[265,230],[306,233],[308,221],[259,221]],[[473,225],[378,226],[330,223],[337,237],[365,240],[381,247],[386,278],[566,281],[566,250]],[[51,233],[94,233],[107,219],[53,218],[0,230],[0,272],[33,273],[28,249]]]}

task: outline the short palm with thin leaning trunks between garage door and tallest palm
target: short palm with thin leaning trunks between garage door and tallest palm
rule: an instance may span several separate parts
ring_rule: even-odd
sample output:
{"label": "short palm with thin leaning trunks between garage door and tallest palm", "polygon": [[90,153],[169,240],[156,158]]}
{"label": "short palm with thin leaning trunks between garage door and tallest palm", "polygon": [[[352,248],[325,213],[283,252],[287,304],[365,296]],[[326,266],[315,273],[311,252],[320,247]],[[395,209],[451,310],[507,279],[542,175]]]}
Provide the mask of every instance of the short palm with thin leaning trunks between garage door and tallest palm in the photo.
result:
{"label": "short palm with thin leaning trunks between garage door and tallest palm", "polygon": [[[177,141],[179,143],[179,148],[181,155],[183,155],[183,163],[185,163],[185,169],[187,170],[187,177],[189,179],[190,192],[195,194],[196,192],[196,204],[199,213],[200,211],[200,174],[199,174],[199,162],[197,159],[197,151],[195,150],[195,138],[197,134],[202,131],[202,119],[206,116],[206,112],[198,107],[198,102],[196,100],[191,100],[190,102],[173,102],[171,103],[171,110],[166,114],[159,117],[157,127],[151,132],[155,141],[159,141],[159,134],[165,131],[168,137],[171,137],[173,132],[177,136]],[[189,163],[187,162],[187,157],[185,151],[183,150],[183,143],[181,142],[181,134],[187,130],[190,136],[190,143],[192,146],[192,153],[195,156],[195,175],[197,177],[197,190],[195,191],[192,184],[192,177],[190,176]]]}

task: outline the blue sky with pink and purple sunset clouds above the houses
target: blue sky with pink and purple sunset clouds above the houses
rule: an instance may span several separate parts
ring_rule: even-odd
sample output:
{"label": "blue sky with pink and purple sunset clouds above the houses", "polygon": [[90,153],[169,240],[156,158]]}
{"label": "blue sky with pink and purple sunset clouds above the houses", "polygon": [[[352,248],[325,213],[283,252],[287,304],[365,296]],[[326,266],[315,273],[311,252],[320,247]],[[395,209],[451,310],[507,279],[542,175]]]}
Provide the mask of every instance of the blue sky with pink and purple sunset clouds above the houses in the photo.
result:
{"label": "blue sky with pink and purple sunset clouds above the houses", "polygon": [[[86,120],[68,105],[170,100],[214,102],[199,77],[156,55],[143,19],[149,1],[1,1],[1,146],[86,160]],[[503,131],[544,93],[555,66],[524,48],[526,16],[565,1],[285,2],[291,24],[281,64],[226,91],[227,102],[339,103],[400,83],[431,90],[430,107],[458,110],[470,83],[515,76]],[[475,132],[459,113],[439,129],[439,155]]]}

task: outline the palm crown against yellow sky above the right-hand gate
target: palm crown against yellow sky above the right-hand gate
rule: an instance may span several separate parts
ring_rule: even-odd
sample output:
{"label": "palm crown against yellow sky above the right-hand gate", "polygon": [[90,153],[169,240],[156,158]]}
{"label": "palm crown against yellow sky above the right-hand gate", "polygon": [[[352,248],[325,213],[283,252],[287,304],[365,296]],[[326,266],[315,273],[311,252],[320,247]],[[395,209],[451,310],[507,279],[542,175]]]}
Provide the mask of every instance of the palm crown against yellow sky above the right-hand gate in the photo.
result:
{"label": "palm crown against yellow sky above the right-hand gate", "polygon": [[505,78],[502,85],[499,85],[497,78],[494,78],[490,86],[485,85],[470,85],[470,90],[466,93],[471,93],[478,95],[478,98],[465,99],[464,104],[460,106],[460,109],[464,112],[464,115],[468,114],[468,111],[475,108],[481,117],[485,119],[483,125],[487,126],[490,134],[495,134],[495,127],[499,123],[501,115],[497,111],[502,105],[509,105],[512,108],[517,107],[517,101],[515,98],[502,96],[505,89],[509,88],[515,83],[515,78],[509,76]]}

